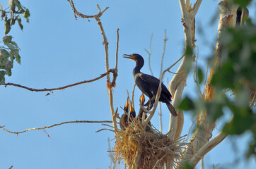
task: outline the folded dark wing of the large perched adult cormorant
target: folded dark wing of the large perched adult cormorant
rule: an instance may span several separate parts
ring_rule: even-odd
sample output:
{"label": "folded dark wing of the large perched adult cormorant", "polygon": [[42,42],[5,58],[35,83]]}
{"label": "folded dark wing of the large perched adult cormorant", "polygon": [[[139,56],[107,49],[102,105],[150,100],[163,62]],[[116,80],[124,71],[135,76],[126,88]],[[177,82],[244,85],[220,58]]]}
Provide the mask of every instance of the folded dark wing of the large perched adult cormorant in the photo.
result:
{"label": "folded dark wing of the large perched adult cormorant", "polygon": [[[147,82],[148,84],[152,85],[153,87],[158,88],[159,87],[159,82],[160,80],[158,80],[158,78],[153,77],[151,75],[146,75],[144,73],[141,73],[139,75],[139,77],[141,77],[142,80],[144,80],[145,82]],[[165,94],[169,97],[171,97],[172,95],[170,94],[169,90],[165,87],[165,84],[163,84],[162,82],[162,91],[165,92]]]}

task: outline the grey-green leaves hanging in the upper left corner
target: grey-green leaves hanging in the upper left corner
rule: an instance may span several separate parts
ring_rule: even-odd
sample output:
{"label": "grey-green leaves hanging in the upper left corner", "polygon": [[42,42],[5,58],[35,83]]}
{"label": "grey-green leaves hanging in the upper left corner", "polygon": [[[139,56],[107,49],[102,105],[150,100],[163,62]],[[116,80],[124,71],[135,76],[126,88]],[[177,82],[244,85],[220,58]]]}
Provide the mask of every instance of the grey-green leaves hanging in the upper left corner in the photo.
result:
{"label": "grey-green leaves hanging in the upper left corner", "polygon": [[[21,17],[25,18],[29,23],[30,11],[21,5],[18,0],[9,0],[8,8],[4,9],[1,4],[1,20],[4,20],[4,37],[0,42],[0,84],[5,83],[5,75],[11,76],[13,61],[21,64],[20,50],[16,42],[13,42],[13,37],[8,35],[11,27],[18,23],[18,26],[23,30]],[[17,21],[17,22],[16,22]]]}

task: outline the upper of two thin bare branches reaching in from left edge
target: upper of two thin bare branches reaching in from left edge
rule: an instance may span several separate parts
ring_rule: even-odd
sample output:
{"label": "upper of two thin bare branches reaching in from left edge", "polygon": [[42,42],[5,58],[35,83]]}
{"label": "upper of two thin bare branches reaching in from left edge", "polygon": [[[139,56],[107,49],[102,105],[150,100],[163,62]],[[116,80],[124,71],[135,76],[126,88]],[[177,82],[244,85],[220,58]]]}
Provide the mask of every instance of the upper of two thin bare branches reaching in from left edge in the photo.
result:
{"label": "upper of two thin bare branches reaching in from left edge", "polygon": [[23,89],[27,89],[27,90],[32,91],[32,92],[45,92],[45,91],[54,91],[54,90],[66,89],[66,88],[69,88],[69,87],[77,86],[79,84],[94,82],[96,80],[101,79],[102,77],[105,77],[106,75],[109,75],[110,73],[115,73],[115,70],[114,69],[107,70],[106,73],[103,73],[99,77],[95,77],[92,80],[83,80],[81,82],[76,82],[74,84],[69,84],[69,85],[66,85],[64,87],[57,87],[57,88],[52,88],[52,89],[47,89],[47,88],[45,88],[45,89],[33,89],[33,88],[30,88],[30,87],[25,87],[25,86],[23,86],[21,84],[15,84],[15,83],[4,83],[4,84],[0,84],[0,85],[4,85],[5,87],[7,87],[7,86],[21,87]]}

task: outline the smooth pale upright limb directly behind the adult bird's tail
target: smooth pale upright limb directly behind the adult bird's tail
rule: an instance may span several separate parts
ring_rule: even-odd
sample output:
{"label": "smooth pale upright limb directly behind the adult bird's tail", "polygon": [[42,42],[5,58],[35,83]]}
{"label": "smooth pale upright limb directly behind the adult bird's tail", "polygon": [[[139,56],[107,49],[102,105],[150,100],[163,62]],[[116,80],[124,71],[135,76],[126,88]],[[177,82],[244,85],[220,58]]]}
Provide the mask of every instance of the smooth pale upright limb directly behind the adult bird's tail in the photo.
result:
{"label": "smooth pale upright limb directly behind the adult bird's tail", "polygon": [[[197,0],[196,4],[194,5],[194,9],[192,9],[190,5],[190,1],[179,0],[180,2],[180,9],[182,12],[182,23],[184,27],[185,32],[185,53],[186,56],[184,57],[182,63],[180,64],[177,74],[173,76],[173,79],[168,84],[168,87],[170,89],[170,94],[173,95],[173,106],[175,108],[178,107],[181,101],[181,96],[183,89],[185,87],[185,84],[187,82],[187,66],[192,64],[192,56],[190,54],[187,54],[187,49],[193,49],[194,46],[194,17],[197,14],[198,8],[202,2],[202,0]],[[180,134],[182,132],[183,123],[184,123],[184,115],[181,110],[177,110],[178,117],[173,118],[172,115],[170,115],[170,123],[169,123],[169,131],[170,135],[169,137],[171,139],[175,139],[180,137]]]}

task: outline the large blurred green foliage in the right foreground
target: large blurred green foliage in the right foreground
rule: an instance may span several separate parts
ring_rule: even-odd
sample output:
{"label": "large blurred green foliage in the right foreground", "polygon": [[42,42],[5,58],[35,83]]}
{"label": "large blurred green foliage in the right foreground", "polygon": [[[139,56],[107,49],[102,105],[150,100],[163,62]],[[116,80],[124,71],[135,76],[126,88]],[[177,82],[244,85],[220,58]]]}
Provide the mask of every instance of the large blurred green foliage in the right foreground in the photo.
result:
{"label": "large blurred green foliage in the right foreground", "polygon": [[[249,1],[240,1],[246,6]],[[244,4],[243,4],[244,3]],[[209,65],[214,68],[211,80],[214,96],[211,101],[204,101],[202,96],[192,100],[186,96],[181,101],[180,108],[192,111],[197,115],[206,110],[207,118],[214,123],[229,110],[233,118],[222,129],[228,134],[243,134],[246,131],[256,135],[256,25],[250,19],[245,24],[236,27],[226,27],[219,39],[221,48],[219,54],[209,58]],[[219,64],[215,66],[216,57]],[[202,70],[196,70],[196,83],[202,84],[204,77]],[[248,145],[248,154],[255,154],[255,138]]]}

